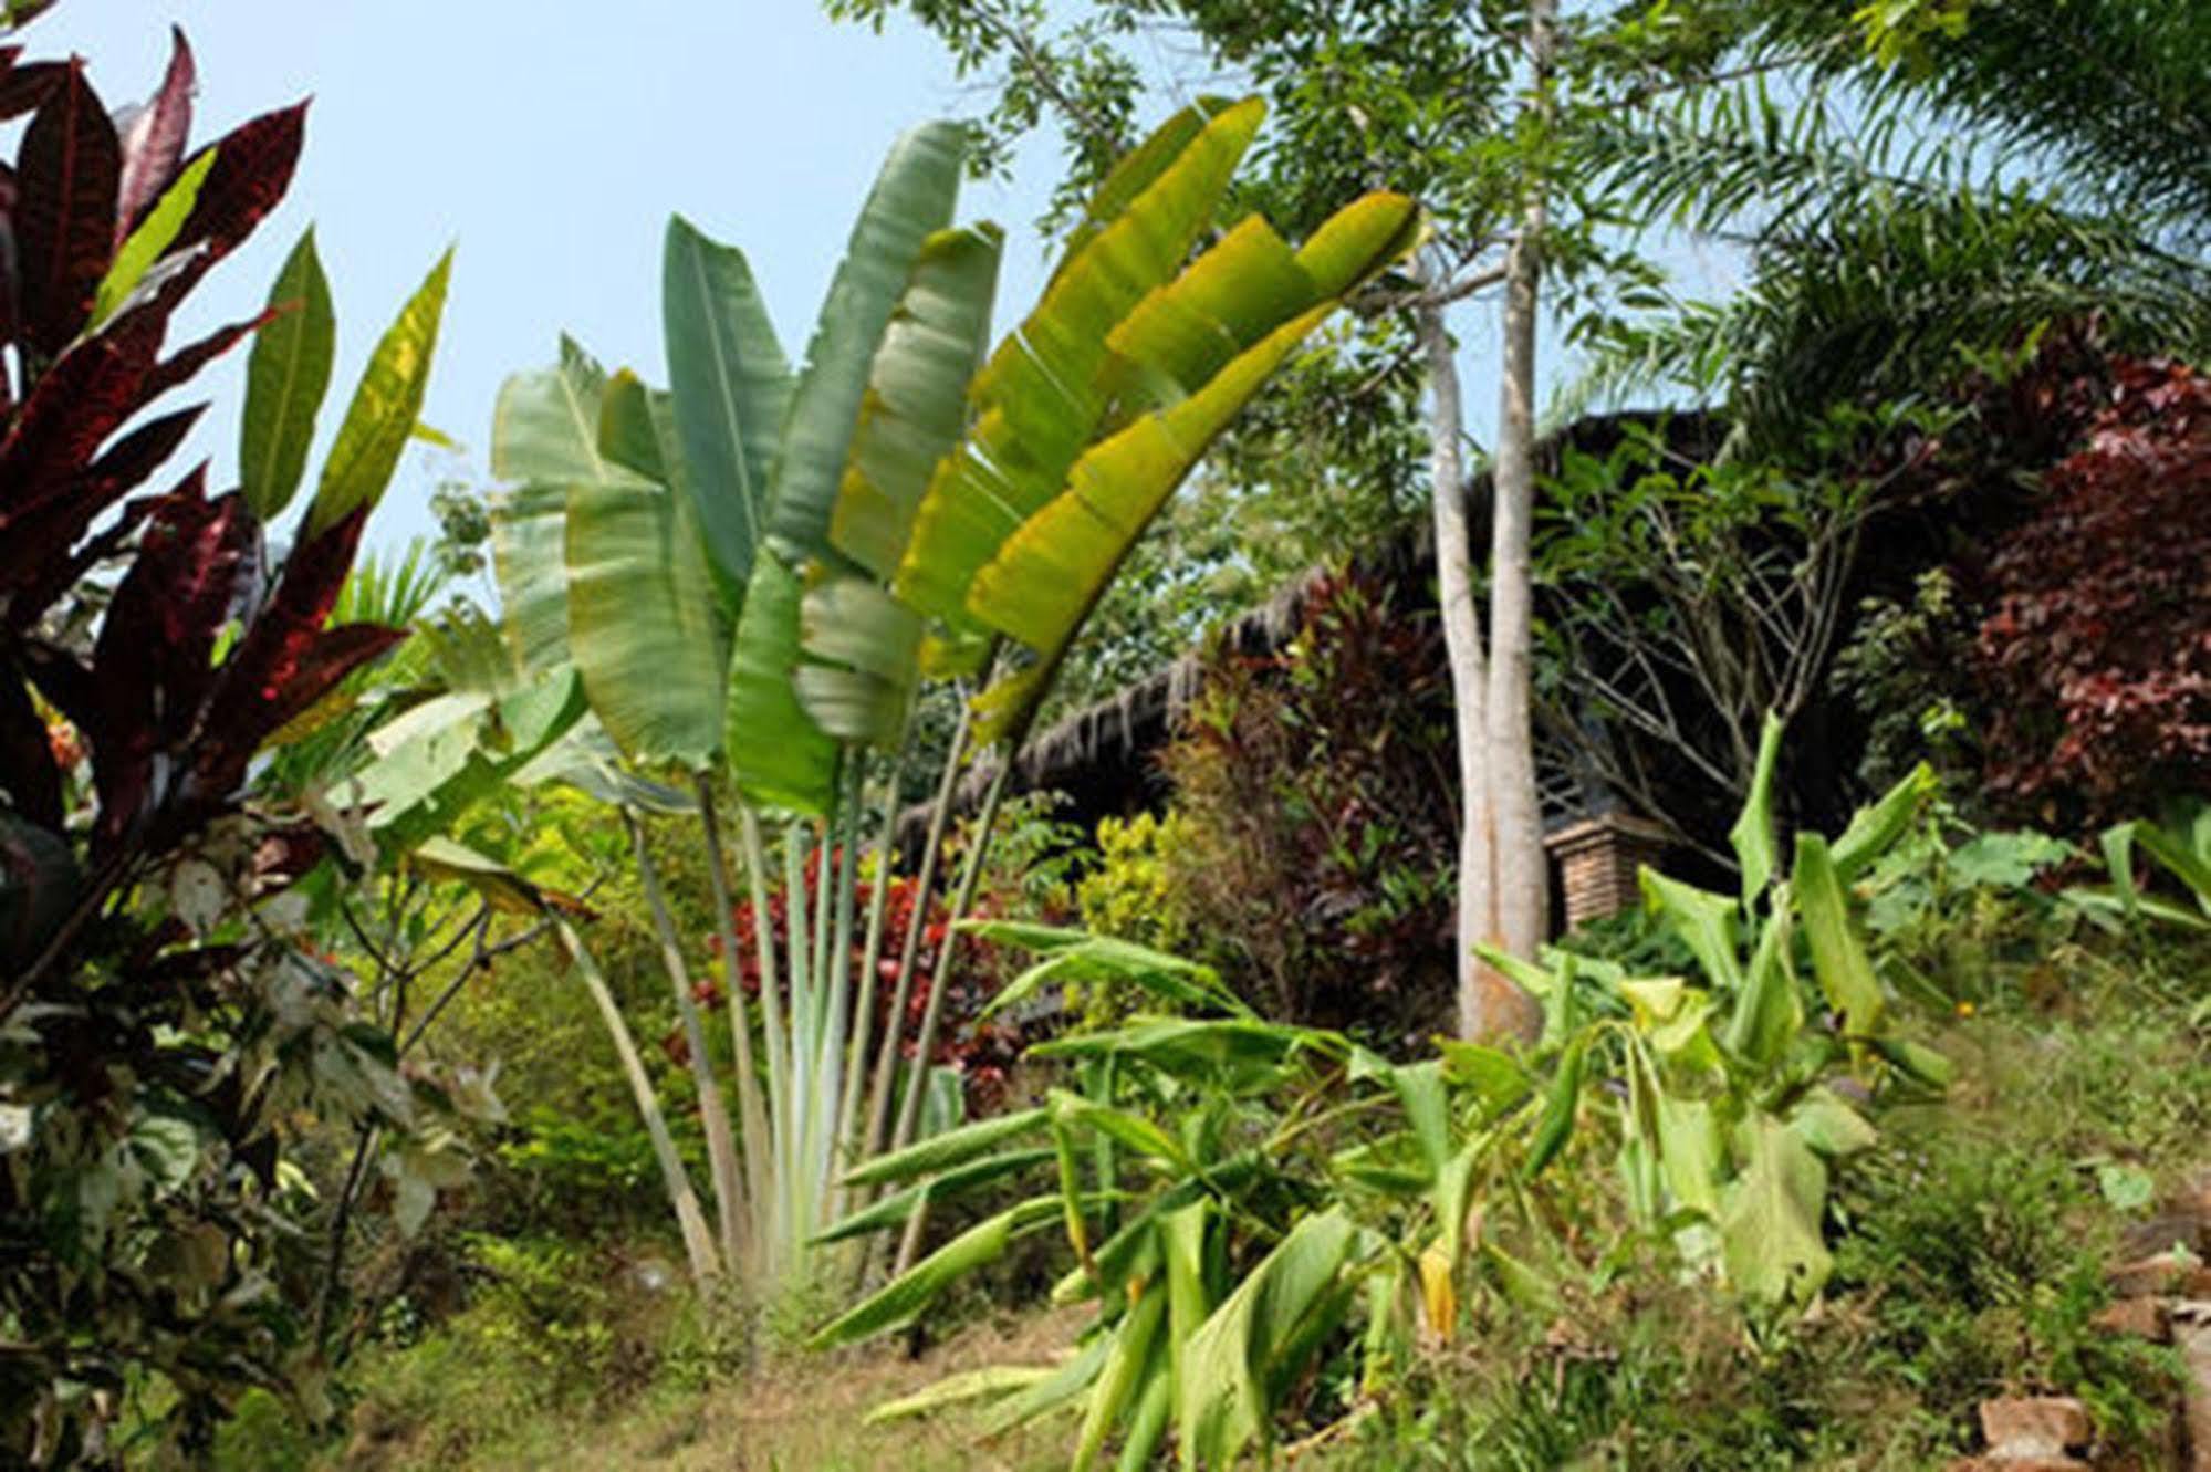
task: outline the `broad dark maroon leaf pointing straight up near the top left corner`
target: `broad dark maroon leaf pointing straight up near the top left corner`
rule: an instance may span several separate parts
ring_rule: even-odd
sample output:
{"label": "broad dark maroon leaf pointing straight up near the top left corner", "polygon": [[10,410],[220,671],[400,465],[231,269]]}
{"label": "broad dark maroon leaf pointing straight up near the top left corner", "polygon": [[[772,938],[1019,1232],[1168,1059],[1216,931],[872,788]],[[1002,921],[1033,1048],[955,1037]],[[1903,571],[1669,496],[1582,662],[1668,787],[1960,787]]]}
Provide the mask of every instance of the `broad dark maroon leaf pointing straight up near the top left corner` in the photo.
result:
{"label": "broad dark maroon leaf pointing straight up near the top left corner", "polygon": [[122,144],[108,111],[71,62],[22,135],[15,250],[22,332],[60,354],[93,314],[93,292],[115,252]]}

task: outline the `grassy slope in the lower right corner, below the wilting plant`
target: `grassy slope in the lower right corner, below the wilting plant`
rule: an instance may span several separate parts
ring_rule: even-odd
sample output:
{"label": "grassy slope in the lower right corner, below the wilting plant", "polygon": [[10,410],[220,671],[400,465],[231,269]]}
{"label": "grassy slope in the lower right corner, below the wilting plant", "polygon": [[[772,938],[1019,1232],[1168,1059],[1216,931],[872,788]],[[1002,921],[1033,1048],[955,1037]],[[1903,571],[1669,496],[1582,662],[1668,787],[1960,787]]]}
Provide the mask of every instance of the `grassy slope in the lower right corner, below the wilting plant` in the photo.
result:
{"label": "grassy slope in the lower right corner, below the wilting plant", "polygon": [[1840,1174],[1813,1313],[1749,1326],[1654,1253],[1433,1355],[1318,1465],[1904,1472],[1970,1452],[1997,1395],[2081,1397],[2098,1465],[2160,1465],[2178,1364],[2094,1317],[2158,1198],[2211,1171],[2211,950],[2058,944],[1979,981],[1935,1028],[1957,1087]]}

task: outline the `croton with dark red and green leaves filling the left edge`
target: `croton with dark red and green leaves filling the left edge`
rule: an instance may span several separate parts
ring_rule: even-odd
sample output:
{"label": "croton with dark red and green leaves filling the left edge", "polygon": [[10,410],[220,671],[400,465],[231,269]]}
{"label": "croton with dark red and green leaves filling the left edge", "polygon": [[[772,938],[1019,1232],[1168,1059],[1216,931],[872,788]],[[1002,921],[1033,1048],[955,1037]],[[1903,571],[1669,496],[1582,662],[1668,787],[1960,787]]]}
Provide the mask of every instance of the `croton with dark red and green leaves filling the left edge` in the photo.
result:
{"label": "croton with dark red and green leaves filling the left edge", "polygon": [[[9,18],[20,18],[11,7]],[[416,429],[440,261],[305,477],[334,325],[312,234],[265,312],[172,340],[276,208],[305,104],[195,146],[195,60],[113,113],[82,60],[0,46],[0,1463],[104,1465],[148,1406],[203,1439],[241,1386],[314,1403],[321,1233],[301,1118],[425,1105],[303,942],[323,849],[256,756],[400,630],[329,628]],[[252,340],[237,484],[170,460],[172,393]],[[287,1185],[294,1182],[294,1185]]]}

